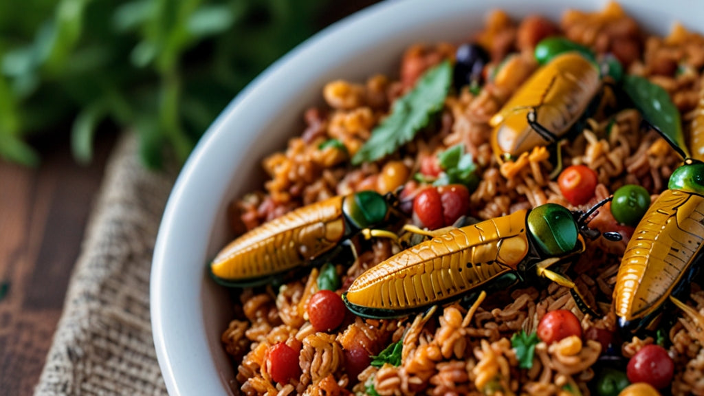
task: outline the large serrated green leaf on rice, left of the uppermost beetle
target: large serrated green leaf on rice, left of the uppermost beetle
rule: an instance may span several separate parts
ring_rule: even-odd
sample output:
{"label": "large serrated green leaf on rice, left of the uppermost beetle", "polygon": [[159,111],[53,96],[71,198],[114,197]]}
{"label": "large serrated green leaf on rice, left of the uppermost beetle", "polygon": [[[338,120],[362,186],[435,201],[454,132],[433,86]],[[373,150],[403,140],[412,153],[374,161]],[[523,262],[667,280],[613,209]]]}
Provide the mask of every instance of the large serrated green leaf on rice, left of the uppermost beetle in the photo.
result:
{"label": "large serrated green leaf on rice, left of the uppermost beetle", "polygon": [[425,72],[410,92],[396,99],[391,114],[372,130],[372,136],[352,157],[353,165],[381,159],[413,140],[442,109],[451,83],[450,61]]}

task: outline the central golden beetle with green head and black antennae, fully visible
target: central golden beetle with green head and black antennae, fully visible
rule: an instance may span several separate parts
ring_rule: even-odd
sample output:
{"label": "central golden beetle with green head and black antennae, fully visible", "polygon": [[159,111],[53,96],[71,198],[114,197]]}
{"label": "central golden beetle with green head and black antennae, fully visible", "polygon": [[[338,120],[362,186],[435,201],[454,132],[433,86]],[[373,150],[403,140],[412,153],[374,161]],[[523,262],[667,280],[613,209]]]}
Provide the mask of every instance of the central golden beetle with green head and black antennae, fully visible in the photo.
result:
{"label": "central golden beetle with green head and black antennae, fully visible", "polygon": [[386,318],[543,277],[570,287],[580,309],[589,311],[572,280],[551,267],[577,259],[586,247],[584,236],[598,237],[586,219],[607,201],[584,214],[543,204],[462,228],[411,228],[432,239],[365,271],[342,297],[359,316]]}

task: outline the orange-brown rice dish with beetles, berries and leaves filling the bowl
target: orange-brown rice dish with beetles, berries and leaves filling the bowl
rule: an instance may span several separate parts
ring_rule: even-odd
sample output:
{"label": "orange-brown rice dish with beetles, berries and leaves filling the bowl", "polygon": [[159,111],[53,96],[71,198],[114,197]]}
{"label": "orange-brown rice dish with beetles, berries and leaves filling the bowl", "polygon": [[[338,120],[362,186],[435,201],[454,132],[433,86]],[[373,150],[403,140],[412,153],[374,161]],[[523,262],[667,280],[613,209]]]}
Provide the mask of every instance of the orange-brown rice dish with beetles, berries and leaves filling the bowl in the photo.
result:
{"label": "orange-brown rice dish with beetles, berries and leaves filling the bowl", "polygon": [[704,37],[494,11],[397,67],[232,203],[234,392],[704,395]]}

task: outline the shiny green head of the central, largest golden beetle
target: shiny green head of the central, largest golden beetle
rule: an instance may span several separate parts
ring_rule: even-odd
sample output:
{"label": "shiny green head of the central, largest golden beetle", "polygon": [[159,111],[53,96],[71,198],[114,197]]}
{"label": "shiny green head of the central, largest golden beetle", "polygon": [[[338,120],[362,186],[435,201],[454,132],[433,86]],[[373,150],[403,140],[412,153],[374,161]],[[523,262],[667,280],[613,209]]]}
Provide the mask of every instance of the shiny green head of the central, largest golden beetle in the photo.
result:
{"label": "shiny green head of the central, largest golden beetle", "polygon": [[528,214],[528,229],[543,254],[560,256],[577,245],[577,223],[572,213],[558,204],[544,204]]}

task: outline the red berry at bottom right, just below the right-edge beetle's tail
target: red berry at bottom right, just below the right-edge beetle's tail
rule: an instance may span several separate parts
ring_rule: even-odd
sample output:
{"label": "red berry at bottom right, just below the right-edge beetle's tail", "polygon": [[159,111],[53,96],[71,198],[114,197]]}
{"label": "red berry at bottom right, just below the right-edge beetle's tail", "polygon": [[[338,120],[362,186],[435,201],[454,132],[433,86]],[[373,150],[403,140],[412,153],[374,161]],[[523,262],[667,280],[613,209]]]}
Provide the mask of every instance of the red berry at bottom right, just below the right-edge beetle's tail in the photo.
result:
{"label": "red berry at bottom right, just below the right-edge beetle's tail", "polygon": [[631,383],[644,382],[657,389],[670,385],[673,373],[674,362],[665,348],[652,344],[636,352],[626,368]]}

